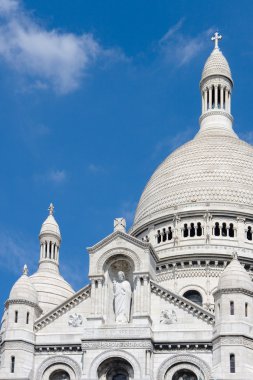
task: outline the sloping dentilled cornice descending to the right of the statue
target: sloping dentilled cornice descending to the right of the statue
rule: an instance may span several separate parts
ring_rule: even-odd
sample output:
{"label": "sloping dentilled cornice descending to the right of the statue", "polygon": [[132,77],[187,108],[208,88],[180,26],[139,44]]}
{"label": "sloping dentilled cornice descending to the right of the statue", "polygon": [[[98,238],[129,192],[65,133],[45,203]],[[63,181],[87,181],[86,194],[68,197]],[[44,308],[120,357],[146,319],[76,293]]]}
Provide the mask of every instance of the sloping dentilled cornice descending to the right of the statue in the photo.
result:
{"label": "sloping dentilled cornice descending to the right of the statue", "polygon": [[188,313],[191,313],[194,317],[203,320],[207,324],[214,325],[215,316],[210,311],[207,311],[203,307],[189,301],[188,299],[173,293],[171,290],[163,288],[152,280],[150,280],[150,285],[153,293],[168,300],[183,310],[186,310]]}

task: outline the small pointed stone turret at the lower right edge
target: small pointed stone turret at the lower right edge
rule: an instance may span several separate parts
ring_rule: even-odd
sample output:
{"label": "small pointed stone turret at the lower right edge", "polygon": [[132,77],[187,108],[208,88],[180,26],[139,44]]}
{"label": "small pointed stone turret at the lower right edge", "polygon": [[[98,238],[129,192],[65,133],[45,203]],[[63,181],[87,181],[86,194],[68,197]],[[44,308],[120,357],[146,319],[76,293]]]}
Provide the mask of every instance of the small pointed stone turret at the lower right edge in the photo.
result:
{"label": "small pointed stone turret at the lower right edge", "polygon": [[253,365],[247,342],[252,341],[253,283],[237,253],[220,276],[214,300],[213,377],[250,380]]}

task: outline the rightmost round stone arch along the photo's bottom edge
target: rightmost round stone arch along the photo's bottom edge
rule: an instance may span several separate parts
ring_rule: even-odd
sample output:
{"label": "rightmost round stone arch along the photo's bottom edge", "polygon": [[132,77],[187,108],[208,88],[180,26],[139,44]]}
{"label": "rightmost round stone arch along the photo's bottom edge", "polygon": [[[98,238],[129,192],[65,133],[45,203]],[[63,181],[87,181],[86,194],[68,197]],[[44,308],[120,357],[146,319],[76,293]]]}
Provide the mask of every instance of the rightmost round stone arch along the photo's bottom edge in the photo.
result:
{"label": "rightmost round stone arch along the photo's bottom edge", "polygon": [[181,368],[193,369],[194,367],[199,369],[204,376],[203,380],[209,380],[211,376],[211,369],[209,365],[202,359],[199,359],[195,355],[174,355],[170,359],[164,360],[158,369],[158,380],[165,380],[165,376],[168,371],[171,371],[175,367],[176,370]]}

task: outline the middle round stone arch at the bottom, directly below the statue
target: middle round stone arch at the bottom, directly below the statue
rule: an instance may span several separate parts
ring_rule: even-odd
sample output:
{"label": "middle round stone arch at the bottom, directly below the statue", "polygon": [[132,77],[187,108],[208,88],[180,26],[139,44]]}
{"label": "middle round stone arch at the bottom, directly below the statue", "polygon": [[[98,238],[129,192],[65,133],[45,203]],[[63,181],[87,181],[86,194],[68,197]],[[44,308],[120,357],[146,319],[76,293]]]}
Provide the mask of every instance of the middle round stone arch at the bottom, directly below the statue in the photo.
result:
{"label": "middle round stone arch at the bottom, directly below the statue", "polygon": [[125,361],[129,362],[129,364],[132,366],[134,371],[134,377],[136,379],[141,379],[141,367],[138,361],[135,359],[135,357],[130,354],[129,352],[125,352],[123,350],[115,350],[115,351],[105,351],[102,352],[100,355],[98,355],[91,363],[90,369],[89,369],[89,379],[97,379],[97,370],[99,366],[107,359],[113,359],[113,358],[121,358]]}

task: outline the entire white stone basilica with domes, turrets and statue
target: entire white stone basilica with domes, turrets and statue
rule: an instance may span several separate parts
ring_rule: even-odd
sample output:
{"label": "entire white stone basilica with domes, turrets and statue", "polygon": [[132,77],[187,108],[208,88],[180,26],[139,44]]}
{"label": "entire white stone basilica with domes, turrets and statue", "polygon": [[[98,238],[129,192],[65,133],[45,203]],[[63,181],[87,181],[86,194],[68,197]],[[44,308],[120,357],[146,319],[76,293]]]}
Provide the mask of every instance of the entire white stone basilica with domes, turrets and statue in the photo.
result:
{"label": "entire white stone basilica with domes, turrets and statue", "polygon": [[0,380],[253,379],[253,147],[233,130],[220,39],[199,130],[156,169],[132,227],[116,218],[88,248],[77,292],[50,205],[38,269],[24,265],[5,303]]}

